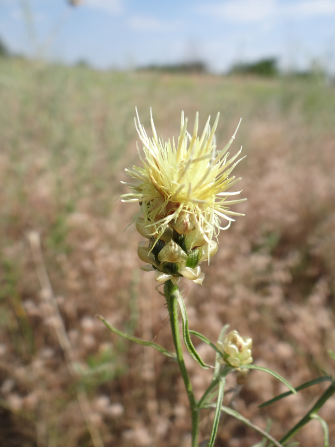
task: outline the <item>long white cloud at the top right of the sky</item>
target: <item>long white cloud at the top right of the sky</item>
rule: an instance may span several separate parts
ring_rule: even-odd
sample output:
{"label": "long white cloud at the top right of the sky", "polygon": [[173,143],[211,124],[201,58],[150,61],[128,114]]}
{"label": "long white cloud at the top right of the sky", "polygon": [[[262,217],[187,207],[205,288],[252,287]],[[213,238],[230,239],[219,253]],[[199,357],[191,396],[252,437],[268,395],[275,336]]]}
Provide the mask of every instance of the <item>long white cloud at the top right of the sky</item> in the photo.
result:
{"label": "long white cloud at the top right of the sky", "polygon": [[309,18],[335,14],[335,0],[300,0],[283,4],[279,0],[228,0],[200,6],[198,12],[225,22],[255,23],[277,18]]}

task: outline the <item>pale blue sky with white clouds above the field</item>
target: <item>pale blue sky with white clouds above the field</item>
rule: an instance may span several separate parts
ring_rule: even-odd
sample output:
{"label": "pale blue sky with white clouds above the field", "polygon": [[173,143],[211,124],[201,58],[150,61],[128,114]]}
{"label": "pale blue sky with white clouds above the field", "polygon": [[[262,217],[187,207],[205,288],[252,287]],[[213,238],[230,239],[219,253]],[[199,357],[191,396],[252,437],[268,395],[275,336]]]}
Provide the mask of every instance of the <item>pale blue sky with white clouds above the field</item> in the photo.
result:
{"label": "pale blue sky with white clouds above the field", "polygon": [[16,53],[101,69],[197,59],[220,73],[277,57],[284,69],[316,60],[335,73],[335,0],[82,0],[77,7],[0,0],[0,38]]}

